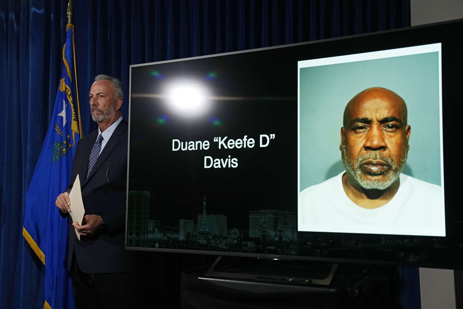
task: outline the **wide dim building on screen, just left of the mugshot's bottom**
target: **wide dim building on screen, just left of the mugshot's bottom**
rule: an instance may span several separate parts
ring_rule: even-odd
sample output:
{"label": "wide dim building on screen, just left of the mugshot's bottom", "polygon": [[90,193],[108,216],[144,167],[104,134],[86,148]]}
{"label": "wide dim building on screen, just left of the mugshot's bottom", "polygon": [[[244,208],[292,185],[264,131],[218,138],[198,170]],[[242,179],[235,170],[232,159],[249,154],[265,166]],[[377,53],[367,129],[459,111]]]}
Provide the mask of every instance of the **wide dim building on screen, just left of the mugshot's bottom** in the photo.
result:
{"label": "wide dim building on screen, just left of the mugshot's bottom", "polygon": [[261,238],[265,230],[268,238],[296,240],[296,223],[296,214],[287,210],[251,210],[249,212],[249,237]]}

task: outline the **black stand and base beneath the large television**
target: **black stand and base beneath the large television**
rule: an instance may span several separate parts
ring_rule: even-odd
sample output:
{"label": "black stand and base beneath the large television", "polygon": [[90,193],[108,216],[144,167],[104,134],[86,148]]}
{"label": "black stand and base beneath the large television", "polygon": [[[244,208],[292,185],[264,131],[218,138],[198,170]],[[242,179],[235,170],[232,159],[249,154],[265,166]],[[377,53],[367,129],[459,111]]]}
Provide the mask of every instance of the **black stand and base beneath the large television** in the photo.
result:
{"label": "black stand and base beneath the large television", "polygon": [[389,309],[387,282],[368,265],[223,256],[213,265],[182,272],[181,305]]}

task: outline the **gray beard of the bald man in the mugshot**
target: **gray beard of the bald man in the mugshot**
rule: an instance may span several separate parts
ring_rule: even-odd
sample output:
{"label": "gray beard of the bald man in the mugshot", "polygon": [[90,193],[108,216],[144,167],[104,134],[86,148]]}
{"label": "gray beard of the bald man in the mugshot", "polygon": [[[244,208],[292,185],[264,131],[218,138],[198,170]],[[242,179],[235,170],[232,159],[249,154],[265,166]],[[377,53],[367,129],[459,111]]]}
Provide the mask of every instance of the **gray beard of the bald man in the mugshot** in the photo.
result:
{"label": "gray beard of the bald man in the mugshot", "polygon": [[[402,172],[403,168],[405,167],[405,163],[407,162],[407,151],[404,151],[402,158],[399,160],[399,164],[395,164],[395,162],[388,157],[381,156],[379,151],[371,151],[366,155],[361,155],[357,158],[355,162],[355,166],[351,164],[347,156],[346,146],[343,143],[342,151],[341,151],[341,158],[343,160],[344,168],[346,169],[347,175],[357,183],[363,189],[377,189],[377,190],[385,190],[388,189],[393,183],[399,179],[400,173]],[[381,160],[386,162],[390,169],[378,175],[385,175],[389,176],[387,180],[374,180],[374,179],[363,179],[362,176],[365,175],[361,170],[360,166],[366,160]]]}

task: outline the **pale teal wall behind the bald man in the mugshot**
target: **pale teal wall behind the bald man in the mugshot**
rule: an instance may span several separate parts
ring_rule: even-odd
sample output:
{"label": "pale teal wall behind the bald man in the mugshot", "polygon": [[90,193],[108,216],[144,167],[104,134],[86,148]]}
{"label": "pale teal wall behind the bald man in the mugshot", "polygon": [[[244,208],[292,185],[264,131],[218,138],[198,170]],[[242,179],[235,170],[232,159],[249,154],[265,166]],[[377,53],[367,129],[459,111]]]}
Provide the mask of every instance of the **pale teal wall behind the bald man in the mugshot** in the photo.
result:
{"label": "pale teal wall behind the bald man in the mugshot", "polygon": [[438,52],[300,69],[300,191],[338,175],[344,107],[370,87],[407,104],[412,128],[403,173],[441,185]]}

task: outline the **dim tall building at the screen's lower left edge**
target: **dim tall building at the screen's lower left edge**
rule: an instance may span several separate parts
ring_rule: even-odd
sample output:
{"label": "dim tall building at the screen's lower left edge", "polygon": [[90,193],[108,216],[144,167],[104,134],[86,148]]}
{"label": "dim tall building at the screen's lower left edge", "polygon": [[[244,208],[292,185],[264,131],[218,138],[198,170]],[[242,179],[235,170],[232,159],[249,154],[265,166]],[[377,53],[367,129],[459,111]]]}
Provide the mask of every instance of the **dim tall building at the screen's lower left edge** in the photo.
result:
{"label": "dim tall building at the screen's lower left edge", "polygon": [[128,246],[148,246],[150,196],[150,192],[148,191],[129,191],[127,220]]}

